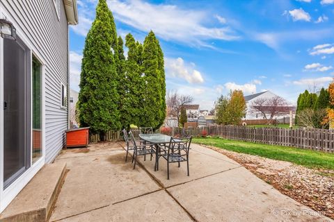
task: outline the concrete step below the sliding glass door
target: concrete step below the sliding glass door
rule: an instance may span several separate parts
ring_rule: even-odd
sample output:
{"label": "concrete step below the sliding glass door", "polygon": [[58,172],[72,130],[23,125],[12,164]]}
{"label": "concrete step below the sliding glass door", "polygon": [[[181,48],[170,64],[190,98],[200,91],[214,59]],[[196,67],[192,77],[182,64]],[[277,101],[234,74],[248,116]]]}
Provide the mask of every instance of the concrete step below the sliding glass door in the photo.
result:
{"label": "concrete step below the sliding glass door", "polygon": [[47,221],[66,174],[66,163],[45,164],[0,214],[0,222]]}

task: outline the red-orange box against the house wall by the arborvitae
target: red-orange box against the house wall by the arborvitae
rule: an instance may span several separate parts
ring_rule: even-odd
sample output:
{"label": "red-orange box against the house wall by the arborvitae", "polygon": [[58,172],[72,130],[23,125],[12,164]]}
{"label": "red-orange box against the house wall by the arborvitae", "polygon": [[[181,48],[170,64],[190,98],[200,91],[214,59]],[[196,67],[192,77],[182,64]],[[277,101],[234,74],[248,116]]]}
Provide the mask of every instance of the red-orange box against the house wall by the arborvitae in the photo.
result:
{"label": "red-orange box against the house wall by the arborvitae", "polygon": [[66,132],[66,148],[88,146],[89,127],[71,129],[65,132]]}

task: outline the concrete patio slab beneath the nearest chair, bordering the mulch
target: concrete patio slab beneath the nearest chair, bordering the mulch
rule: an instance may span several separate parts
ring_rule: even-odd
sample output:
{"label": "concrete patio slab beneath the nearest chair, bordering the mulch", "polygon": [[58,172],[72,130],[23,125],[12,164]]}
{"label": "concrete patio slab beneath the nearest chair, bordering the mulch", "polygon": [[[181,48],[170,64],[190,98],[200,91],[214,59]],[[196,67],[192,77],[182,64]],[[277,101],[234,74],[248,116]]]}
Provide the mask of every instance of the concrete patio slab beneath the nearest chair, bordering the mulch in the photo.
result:
{"label": "concrete patio slab beneath the nearest chair, bordering the mulch", "polygon": [[186,176],[186,162],[182,162],[180,168],[177,167],[177,163],[170,164],[170,180],[167,180],[167,162],[163,157],[159,159],[159,171],[154,171],[155,159],[150,161],[149,156],[146,157],[146,161],[143,161],[142,156],[138,156],[138,162],[164,187],[180,185],[184,182],[241,167],[237,162],[221,155],[221,153],[193,144],[191,144],[189,154],[190,176]]}

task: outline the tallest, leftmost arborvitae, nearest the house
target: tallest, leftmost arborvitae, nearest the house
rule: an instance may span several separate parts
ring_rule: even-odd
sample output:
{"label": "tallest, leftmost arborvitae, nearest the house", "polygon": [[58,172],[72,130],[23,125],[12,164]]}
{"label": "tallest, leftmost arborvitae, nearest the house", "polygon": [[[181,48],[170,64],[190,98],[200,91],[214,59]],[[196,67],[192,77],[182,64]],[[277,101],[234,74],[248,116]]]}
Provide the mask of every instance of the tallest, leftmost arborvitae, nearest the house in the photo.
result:
{"label": "tallest, leftmost arborvitae, nearest the house", "polygon": [[79,93],[79,120],[81,126],[90,126],[101,139],[109,130],[120,129],[118,110],[118,76],[111,46],[111,12],[106,0],[100,0],[96,17],[86,36],[81,64]]}

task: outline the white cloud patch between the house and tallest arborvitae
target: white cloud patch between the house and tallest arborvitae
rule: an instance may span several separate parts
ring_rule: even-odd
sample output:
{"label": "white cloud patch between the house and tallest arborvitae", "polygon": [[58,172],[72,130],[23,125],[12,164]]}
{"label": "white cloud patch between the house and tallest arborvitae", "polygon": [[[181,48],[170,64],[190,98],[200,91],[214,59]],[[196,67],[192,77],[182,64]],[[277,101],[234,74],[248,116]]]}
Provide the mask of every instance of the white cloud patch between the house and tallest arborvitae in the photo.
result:
{"label": "white cloud patch between the house and tallest arborvitae", "polygon": [[70,87],[79,91],[82,55],[70,51]]}

